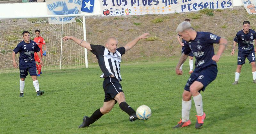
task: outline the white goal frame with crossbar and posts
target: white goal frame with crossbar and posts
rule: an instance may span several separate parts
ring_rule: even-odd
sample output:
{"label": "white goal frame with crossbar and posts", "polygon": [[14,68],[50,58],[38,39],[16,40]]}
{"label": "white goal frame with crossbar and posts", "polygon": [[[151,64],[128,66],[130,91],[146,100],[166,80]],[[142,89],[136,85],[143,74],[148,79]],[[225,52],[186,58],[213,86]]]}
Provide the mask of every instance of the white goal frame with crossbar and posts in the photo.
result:
{"label": "white goal frame with crossbar and posts", "polygon": [[[27,18],[52,18],[52,17],[83,17],[83,36],[84,41],[86,41],[86,28],[85,28],[85,15],[84,14],[67,14],[67,15],[46,15],[46,16],[18,16],[18,17],[1,17],[0,19],[27,19]],[[63,19],[61,24],[61,48],[60,48],[60,69],[61,69],[61,62],[62,62],[62,44],[63,44]],[[84,48],[84,58],[85,58],[85,68],[88,68],[88,57],[87,57],[87,49]]]}

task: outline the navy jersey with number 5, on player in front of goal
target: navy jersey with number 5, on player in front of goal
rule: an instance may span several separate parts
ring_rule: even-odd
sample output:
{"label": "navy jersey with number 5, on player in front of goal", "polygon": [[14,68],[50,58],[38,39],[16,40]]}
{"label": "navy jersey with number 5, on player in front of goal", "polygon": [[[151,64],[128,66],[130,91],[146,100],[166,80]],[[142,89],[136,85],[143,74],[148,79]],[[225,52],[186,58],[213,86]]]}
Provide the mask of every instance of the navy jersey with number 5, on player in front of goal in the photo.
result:
{"label": "navy jersey with number 5, on player in front of goal", "polygon": [[40,48],[36,45],[36,42],[31,40],[30,40],[30,43],[21,41],[17,45],[17,47],[13,49],[13,52],[15,52],[15,54],[20,52],[20,58],[19,58],[20,67],[36,66],[34,53],[39,51],[40,51]]}

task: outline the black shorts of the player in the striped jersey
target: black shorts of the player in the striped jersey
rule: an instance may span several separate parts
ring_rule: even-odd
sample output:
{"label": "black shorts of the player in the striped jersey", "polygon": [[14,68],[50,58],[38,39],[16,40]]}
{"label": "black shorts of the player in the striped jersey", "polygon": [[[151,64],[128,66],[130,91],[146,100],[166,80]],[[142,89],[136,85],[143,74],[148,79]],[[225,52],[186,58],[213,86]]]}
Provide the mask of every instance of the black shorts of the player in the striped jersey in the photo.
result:
{"label": "black shorts of the player in the striped jersey", "polygon": [[124,92],[119,81],[110,76],[104,79],[102,86],[105,92],[104,102],[114,100],[118,93]]}

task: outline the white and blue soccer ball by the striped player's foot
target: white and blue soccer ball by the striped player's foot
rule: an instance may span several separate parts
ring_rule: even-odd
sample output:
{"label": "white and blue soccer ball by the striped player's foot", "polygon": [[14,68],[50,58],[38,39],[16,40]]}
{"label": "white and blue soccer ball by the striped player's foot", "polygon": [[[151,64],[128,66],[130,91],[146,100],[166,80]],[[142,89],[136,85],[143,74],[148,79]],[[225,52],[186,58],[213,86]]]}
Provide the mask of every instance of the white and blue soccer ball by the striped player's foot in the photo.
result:
{"label": "white and blue soccer ball by the striped player's foot", "polygon": [[146,105],[142,105],[137,108],[136,115],[140,120],[148,120],[151,116],[151,109]]}

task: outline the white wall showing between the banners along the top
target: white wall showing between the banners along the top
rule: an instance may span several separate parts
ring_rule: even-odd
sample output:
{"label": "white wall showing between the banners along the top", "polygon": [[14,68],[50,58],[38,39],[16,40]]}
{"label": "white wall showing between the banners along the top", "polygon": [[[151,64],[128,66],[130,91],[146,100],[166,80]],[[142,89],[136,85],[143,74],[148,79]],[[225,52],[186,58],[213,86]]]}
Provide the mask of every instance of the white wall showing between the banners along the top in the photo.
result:
{"label": "white wall showing between the banners along the top", "polygon": [[[100,0],[94,1],[94,9],[92,13],[81,12],[85,15],[100,15]],[[242,6],[242,0],[233,0],[233,6]],[[47,15],[47,8],[45,2],[33,3],[13,3],[13,4],[0,4],[0,18],[16,17],[16,16],[42,16]]]}

